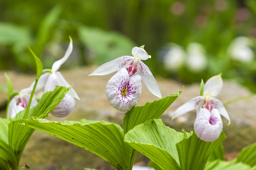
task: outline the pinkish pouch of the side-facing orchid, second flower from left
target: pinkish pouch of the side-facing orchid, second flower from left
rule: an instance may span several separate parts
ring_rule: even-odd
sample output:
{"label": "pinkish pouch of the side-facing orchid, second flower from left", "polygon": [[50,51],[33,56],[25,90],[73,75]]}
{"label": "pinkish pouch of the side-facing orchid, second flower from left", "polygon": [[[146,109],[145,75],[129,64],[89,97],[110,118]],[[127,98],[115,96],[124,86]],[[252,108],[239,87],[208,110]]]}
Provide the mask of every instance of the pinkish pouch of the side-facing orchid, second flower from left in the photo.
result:
{"label": "pinkish pouch of the side-facing orchid, second flower from left", "polygon": [[57,117],[67,116],[72,111],[75,104],[75,99],[66,94],[60,103],[52,109],[51,114]]}

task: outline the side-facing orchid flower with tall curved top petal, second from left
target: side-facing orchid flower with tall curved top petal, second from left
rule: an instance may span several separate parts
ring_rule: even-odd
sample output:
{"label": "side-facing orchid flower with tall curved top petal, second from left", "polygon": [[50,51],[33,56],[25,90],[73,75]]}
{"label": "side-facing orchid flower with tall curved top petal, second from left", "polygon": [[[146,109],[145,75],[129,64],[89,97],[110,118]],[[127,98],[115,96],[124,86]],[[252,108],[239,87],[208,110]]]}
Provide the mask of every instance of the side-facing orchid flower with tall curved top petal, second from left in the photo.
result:
{"label": "side-facing orchid flower with tall curved top petal, second from left", "polygon": [[[36,90],[44,87],[44,92],[48,92],[53,91],[57,85],[64,87],[70,86],[58,70],[60,66],[68,59],[69,55],[72,52],[72,49],[73,44],[72,39],[70,38],[70,43],[64,57],[53,63],[52,70],[50,72],[46,72],[40,76],[36,85]],[[75,90],[73,88],[70,88],[66,93],[65,97],[55,108],[53,108],[51,113],[58,117],[68,115],[75,106],[74,98],[80,100]]]}

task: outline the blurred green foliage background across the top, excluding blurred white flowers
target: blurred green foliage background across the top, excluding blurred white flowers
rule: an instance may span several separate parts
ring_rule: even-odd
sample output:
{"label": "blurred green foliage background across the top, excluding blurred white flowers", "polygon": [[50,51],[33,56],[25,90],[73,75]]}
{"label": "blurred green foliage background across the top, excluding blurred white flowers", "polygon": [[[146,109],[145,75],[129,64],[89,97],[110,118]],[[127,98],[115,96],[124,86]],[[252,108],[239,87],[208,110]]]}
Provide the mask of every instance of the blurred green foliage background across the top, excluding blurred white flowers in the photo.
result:
{"label": "blurred green foliage background across the top, excluding blurred white flowers", "polygon": [[[255,15],[255,0],[0,1],[0,69],[35,70],[28,44],[50,68],[64,55],[70,35],[74,50],[66,67],[100,65],[145,45],[152,58],[144,62],[154,75],[192,83],[222,72],[256,92]],[[238,36],[253,42],[250,62],[228,54]],[[162,49],[171,42],[184,51],[191,42],[202,44],[205,68],[166,70]]]}

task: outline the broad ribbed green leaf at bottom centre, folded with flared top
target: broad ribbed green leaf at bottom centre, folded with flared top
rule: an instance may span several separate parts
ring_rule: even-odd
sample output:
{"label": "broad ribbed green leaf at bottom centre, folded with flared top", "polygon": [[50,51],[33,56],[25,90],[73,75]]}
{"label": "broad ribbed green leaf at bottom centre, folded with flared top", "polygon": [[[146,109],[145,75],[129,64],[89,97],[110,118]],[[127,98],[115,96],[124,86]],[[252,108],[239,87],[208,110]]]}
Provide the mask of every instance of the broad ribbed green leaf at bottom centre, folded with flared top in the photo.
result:
{"label": "broad ribbed green leaf at bottom centre, folded with flared top", "polygon": [[161,169],[181,169],[176,144],[190,133],[176,132],[161,119],[148,120],[127,132],[124,141],[154,161]]}

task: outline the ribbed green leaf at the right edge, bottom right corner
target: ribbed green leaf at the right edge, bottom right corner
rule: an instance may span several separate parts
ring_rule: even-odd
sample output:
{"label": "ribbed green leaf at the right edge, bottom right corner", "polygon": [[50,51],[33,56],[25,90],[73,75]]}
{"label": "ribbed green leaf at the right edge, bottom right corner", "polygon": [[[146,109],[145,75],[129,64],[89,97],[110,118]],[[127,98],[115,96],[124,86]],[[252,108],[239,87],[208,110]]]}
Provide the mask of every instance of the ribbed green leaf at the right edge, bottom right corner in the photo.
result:
{"label": "ribbed green leaf at the right edge, bottom right corner", "polygon": [[245,147],[238,155],[236,162],[243,162],[250,166],[256,165],[256,144]]}

